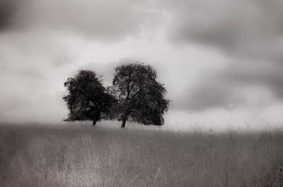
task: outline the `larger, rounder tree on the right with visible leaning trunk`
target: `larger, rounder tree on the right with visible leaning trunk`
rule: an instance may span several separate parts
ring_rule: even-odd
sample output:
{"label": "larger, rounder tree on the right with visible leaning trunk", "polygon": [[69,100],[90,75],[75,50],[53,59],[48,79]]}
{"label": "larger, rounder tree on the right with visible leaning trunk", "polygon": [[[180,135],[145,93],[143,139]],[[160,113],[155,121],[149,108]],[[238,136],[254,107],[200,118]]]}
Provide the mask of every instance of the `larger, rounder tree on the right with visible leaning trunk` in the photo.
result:
{"label": "larger, rounder tree on the right with visible leaning trunk", "polygon": [[112,93],[117,103],[108,113],[110,119],[162,126],[163,114],[168,110],[166,88],[156,80],[156,70],[149,65],[132,63],[117,66],[112,82]]}

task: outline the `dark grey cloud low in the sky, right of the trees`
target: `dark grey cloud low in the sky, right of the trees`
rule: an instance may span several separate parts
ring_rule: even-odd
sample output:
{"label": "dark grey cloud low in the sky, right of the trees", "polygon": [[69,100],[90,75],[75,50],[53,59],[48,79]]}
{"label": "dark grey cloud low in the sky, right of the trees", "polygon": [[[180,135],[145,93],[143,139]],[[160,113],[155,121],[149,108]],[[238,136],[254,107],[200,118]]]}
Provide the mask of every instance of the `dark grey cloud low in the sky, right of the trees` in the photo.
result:
{"label": "dark grey cloud low in the sky, right of the trees", "polygon": [[[255,87],[270,92],[273,102],[283,101],[282,72],[283,66],[278,63],[233,61],[218,71],[200,73],[200,81],[176,97],[173,107],[188,111],[236,109],[248,102],[243,90]],[[254,97],[258,95],[260,92],[255,92]],[[258,102],[260,99],[258,97]]]}

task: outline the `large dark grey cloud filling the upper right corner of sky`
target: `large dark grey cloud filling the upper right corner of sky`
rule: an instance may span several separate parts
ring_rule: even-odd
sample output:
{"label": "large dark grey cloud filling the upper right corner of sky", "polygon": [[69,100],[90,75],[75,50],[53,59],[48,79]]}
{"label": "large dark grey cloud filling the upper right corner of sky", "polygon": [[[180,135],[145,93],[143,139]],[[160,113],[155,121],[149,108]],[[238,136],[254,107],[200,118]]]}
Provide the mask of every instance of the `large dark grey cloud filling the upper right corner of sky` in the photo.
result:
{"label": "large dark grey cloud filling the upper right corner of sky", "polygon": [[[172,37],[248,59],[283,60],[283,1],[168,1]],[[173,7],[173,8],[172,8]]]}

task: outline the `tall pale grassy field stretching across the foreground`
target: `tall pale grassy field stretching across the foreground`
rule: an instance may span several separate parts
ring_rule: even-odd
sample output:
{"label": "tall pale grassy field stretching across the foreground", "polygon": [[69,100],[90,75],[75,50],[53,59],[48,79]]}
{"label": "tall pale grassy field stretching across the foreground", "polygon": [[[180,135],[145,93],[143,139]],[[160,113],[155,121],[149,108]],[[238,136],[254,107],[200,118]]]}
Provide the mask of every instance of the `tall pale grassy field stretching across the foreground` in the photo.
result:
{"label": "tall pale grassy field stretching across the foreground", "polygon": [[279,186],[283,131],[0,125],[0,186]]}

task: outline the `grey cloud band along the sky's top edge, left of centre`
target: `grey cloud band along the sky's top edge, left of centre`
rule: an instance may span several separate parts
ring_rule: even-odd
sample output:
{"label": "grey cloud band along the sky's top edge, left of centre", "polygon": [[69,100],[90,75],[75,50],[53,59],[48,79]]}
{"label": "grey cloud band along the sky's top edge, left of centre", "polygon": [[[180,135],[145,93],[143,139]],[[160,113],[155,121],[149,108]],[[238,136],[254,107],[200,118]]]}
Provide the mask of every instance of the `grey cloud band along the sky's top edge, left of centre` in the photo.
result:
{"label": "grey cloud band along the sky's top edge, left of centre", "polygon": [[[15,30],[61,30],[84,37],[120,40],[141,32],[158,13],[149,11],[139,1],[129,0],[23,0],[4,1],[1,28],[14,25]],[[16,14],[13,13],[17,7]],[[3,9],[3,10],[2,10]],[[0,11],[0,12],[1,12]],[[151,26],[154,26],[151,24]]]}

